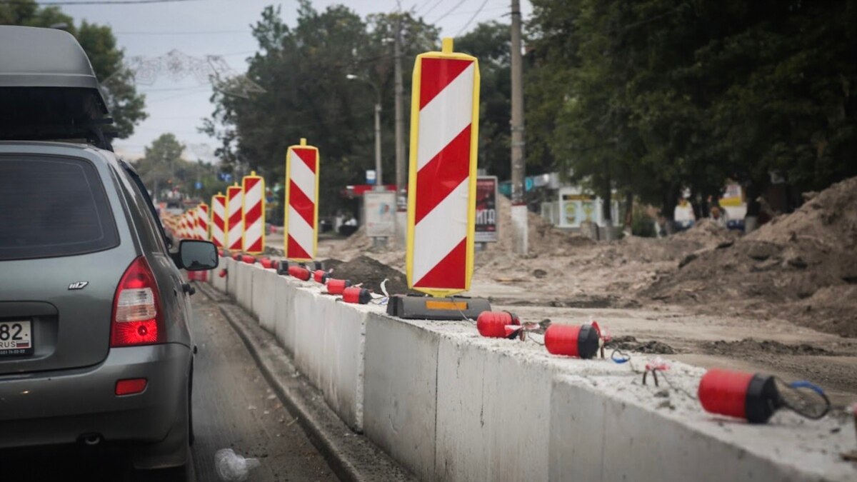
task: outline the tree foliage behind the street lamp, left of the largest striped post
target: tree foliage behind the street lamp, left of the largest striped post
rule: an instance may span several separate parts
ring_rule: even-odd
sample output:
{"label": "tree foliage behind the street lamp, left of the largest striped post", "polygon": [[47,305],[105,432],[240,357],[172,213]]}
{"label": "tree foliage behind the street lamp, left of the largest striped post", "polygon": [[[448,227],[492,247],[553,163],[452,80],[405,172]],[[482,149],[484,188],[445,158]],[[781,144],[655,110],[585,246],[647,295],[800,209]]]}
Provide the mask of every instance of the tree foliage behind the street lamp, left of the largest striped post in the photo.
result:
{"label": "tree foliage behind the street lamp, left of the largest striped post", "polygon": [[[318,11],[306,0],[299,2],[296,22],[288,27],[279,7],[262,12],[253,28],[259,51],[249,59],[248,76],[266,92],[250,99],[215,93],[204,131],[220,139],[218,154],[228,165],[265,172],[269,182],[283,177],[286,148],[306,138],[320,149],[321,213],[333,213],[345,185],[363,184],[365,171],[375,166],[377,96],[366,81],[381,92],[383,180],[393,182],[393,44],[386,39],[397,23],[402,26],[407,89],[417,53],[439,45],[437,29],[406,13],[364,21],[345,6]],[[350,81],[348,74],[366,81]]]}

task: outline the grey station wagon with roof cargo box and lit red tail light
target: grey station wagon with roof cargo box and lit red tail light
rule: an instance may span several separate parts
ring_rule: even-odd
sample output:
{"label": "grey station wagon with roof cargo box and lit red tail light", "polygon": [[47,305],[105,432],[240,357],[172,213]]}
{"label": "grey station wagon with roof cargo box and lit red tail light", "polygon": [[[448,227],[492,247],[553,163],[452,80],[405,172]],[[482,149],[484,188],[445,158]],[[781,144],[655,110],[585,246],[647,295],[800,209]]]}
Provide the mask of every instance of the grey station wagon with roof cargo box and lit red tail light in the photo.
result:
{"label": "grey station wagon with roof cargo box and lit red tail light", "polygon": [[171,251],[107,115],[71,35],[0,27],[0,449],[115,444],[138,468],[182,466],[195,346],[179,269],[218,257]]}

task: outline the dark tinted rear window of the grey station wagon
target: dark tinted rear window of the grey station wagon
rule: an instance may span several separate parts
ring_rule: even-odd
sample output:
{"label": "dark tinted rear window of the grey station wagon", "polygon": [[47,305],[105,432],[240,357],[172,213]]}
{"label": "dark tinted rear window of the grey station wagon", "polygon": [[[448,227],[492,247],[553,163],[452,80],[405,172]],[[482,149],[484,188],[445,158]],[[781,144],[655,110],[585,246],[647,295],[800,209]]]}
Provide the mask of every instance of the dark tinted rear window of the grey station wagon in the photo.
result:
{"label": "dark tinted rear window of the grey station wagon", "polygon": [[0,260],[79,255],[118,244],[91,163],[0,156]]}

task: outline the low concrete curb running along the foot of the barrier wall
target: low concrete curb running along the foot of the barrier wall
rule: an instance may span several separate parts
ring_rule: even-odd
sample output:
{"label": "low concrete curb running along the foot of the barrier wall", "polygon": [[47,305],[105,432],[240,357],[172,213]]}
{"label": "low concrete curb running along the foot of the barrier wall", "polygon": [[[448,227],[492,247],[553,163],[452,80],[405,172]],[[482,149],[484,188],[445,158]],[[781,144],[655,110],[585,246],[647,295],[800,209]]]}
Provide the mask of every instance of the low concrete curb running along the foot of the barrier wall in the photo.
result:
{"label": "low concrete curb running along the foot of the barrier wall", "polygon": [[327,406],[321,393],[301,376],[285,350],[242,308],[211,286],[197,283],[207,298],[218,304],[231,327],[247,346],[279,400],[297,416],[309,439],[345,481],[417,480],[389,455],[355,434]]}

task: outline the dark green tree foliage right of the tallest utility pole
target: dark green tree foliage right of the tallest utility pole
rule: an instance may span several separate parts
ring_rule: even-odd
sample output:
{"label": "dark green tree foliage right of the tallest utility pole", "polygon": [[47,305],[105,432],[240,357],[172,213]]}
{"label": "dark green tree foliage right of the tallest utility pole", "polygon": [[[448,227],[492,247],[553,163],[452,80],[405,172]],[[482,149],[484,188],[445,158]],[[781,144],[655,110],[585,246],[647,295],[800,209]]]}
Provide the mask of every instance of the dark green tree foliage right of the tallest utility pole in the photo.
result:
{"label": "dark green tree foliage right of the tallest utility pole", "polygon": [[[727,178],[857,175],[857,2],[533,0],[528,152],[671,217]],[[602,194],[603,195],[603,194]]]}

